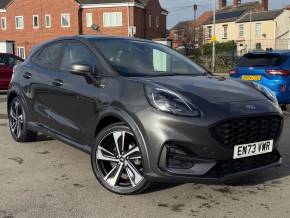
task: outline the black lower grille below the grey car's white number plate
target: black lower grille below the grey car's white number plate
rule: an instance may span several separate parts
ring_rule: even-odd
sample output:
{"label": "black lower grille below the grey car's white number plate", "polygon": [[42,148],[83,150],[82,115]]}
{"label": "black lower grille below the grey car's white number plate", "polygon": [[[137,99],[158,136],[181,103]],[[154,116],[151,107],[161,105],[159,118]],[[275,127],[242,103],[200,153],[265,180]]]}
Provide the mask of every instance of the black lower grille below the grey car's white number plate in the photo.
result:
{"label": "black lower grille below the grey car's white number plate", "polygon": [[278,151],[236,160],[219,161],[207,174],[208,177],[222,177],[246,170],[256,169],[279,161]]}

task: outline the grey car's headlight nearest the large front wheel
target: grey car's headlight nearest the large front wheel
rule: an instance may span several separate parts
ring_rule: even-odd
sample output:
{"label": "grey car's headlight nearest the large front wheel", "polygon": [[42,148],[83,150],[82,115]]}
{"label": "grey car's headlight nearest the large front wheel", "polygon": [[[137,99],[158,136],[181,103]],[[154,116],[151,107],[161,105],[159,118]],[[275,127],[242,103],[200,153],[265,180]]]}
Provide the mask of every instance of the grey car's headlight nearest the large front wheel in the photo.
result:
{"label": "grey car's headlight nearest the large front wheel", "polygon": [[145,86],[149,103],[156,109],[180,116],[200,116],[197,110],[184,97],[160,87]]}

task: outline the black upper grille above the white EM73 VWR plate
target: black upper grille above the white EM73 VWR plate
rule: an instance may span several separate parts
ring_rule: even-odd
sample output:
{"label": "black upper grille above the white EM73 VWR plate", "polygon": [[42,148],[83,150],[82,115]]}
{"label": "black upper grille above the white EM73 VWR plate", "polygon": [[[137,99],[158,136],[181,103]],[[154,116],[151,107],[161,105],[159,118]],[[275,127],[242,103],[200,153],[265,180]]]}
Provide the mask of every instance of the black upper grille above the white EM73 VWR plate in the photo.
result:
{"label": "black upper grille above the white EM73 VWR plate", "polygon": [[277,115],[228,120],[212,128],[214,138],[225,148],[279,138],[282,118]]}

